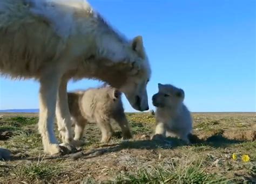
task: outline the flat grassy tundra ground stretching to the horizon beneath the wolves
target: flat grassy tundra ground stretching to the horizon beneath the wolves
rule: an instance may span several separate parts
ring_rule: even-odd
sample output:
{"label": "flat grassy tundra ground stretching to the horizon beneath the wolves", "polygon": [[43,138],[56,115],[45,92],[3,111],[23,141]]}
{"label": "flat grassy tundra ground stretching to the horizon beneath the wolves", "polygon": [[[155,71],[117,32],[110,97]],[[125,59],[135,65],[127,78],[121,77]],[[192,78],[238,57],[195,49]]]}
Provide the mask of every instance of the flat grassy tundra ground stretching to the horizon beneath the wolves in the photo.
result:
{"label": "flat grassy tundra ground stretching to the horizon beneath the wolves", "polygon": [[154,117],[126,116],[133,139],[122,141],[120,128],[113,125],[114,138],[100,144],[100,130],[89,124],[82,151],[49,156],[43,152],[37,114],[1,114],[0,147],[9,148],[13,158],[0,162],[0,182],[256,182],[255,113],[193,113],[200,141],[190,146],[171,138],[150,141]]}

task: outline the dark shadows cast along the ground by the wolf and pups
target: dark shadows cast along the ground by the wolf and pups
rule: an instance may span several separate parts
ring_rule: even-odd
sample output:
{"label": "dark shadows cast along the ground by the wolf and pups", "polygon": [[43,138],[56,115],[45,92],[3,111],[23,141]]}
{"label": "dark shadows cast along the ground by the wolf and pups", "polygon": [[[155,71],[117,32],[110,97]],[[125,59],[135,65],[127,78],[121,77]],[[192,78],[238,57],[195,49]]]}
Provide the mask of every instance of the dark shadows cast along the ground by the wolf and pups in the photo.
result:
{"label": "dark shadows cast along the ground by the wolf and pups", "polygon": [[[245,143],[248,140],[237,140],[237,139],[228,139],[223,135],[213,135],[208,137],[206,140],[200,140],[199,138],[194,140],[194,143],[191,146],[211,146],[214,148],[218,147],[228,147],[232,144],[240,144]],[[54,156],[46,156],[44,159],[62,159],[62,158],[70,158],[70,159],[89,159],[99,157],[100,155],[104,155],[111,152],[119,152],[124,149],[147,149],[147,150],[155,150],[157,148],[172,150],[176,147],[185,146],[186,144],[178,138],[165,138],[158,140],[127,140],[122,141],[117,144],[105,144],[100,145],[98,147],[92,148],[90,151],[78,151],[72,154],[63,154],[63,155],[54,155]],[[21,158],[21,157],[12,157],[12,160],[38,160],[38,157],[34,158]]]}

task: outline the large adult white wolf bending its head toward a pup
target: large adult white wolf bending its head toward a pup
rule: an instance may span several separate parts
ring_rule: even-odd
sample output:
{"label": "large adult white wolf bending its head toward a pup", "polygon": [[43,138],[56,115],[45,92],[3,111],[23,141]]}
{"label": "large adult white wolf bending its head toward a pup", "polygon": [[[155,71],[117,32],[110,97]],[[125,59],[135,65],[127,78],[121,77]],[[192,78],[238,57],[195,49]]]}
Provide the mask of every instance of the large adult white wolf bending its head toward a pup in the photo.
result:
{"label": "large adult white wolf bending its head toward a pup", "polygon": [[[120,36],[83,0],[1,0],[0,70],[12,79],[40,82],[38,130],[49,154],[73,145],[66,93],[70,79],[105,81],[134,109],[149,109],[151,69],[142,37]],[[62,146],[53,132],[55,112]]]}

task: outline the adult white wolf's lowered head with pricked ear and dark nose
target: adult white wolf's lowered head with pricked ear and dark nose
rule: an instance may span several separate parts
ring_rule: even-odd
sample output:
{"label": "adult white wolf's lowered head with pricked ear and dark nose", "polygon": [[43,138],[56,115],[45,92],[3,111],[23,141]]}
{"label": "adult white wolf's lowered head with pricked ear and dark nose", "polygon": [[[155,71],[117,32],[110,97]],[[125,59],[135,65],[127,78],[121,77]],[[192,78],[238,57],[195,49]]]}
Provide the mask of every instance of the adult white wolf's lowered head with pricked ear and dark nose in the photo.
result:
{"label": "adult white wolf's lowered head with pricked ear and dark nose", "polygon": [[146,87],[147,82],[150,80],[151,68],[141,36],[132,40],[130,50],[133,55],[133,61],[131,62],[126,82],[123,83],[119,90],[125,94],[134,109],[139,111],[149,110]]}

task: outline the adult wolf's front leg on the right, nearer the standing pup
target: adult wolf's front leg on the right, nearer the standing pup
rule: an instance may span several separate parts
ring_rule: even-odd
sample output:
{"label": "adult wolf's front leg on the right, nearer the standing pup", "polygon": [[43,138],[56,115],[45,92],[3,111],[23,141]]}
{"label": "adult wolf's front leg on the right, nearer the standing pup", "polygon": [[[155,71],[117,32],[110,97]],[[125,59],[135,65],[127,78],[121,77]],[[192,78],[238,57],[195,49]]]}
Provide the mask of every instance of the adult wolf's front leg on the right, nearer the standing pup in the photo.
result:
{"label": "adult wolf's front leg on the right, nearer the standing pup", "polygon": [[58,88],[57,103],[56,103],[56,118],[58,130],[62,137],[62,146],[73,149],[73,135],[72,135],[72,121],[69,111],[68,94],[67,94],[68,80],[62,79]]}

